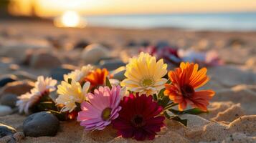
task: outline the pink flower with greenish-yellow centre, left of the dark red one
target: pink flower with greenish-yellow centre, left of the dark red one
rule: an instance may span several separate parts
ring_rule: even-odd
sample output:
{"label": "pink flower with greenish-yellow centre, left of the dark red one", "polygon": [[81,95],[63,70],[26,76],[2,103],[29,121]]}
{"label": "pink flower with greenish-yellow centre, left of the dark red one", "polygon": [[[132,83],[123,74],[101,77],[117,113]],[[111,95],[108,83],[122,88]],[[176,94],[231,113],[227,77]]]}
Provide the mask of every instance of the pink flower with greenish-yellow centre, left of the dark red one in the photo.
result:
{"label": "pink flower with greenish-yellow centre, left of the dark red one", "polygon": [[119,106],[120,87],[99,87],[94,94],[88,94],[89,102],[82,102],[82,111],[78,113],[77,121],[86,130],[102,130],[116,119],[121,107]]}

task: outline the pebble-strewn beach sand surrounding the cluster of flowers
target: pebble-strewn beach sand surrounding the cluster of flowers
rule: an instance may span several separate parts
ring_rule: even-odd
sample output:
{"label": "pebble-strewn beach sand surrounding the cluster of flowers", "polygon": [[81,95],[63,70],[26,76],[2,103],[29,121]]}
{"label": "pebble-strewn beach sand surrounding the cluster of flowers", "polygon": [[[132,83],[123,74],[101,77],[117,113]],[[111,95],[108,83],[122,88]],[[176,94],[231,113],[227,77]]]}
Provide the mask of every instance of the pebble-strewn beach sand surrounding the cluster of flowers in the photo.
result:
{"label": "pebble-strewn beach sand surrounding the cluster of flowers", "polygon": [[[49,39],[56,39],[54,48]],[[256,32],[191,31],[181,29],[57,29],[48,23],[31,21],[0,22],[0,74],[27,71],[35,76],[48,75],[49,69],[29,66],[13,68],[24,60],[27,49],[48,49],[60,56],[63,64],[80,66],[80,51],[70,50],[77,41],[108,46],[112,56],[127,60],[138,51],[138,46],[127,47],[129,41],[140,44],[168,41],[183,49],[216,50],[227,63],[208,69],[211,81],[205,87],[217,94],[209,105],[209,114],[184,115],[188,126],[166,121],[151,142],[256,142]],[[6,58],[8,57],[8,58]],[[12,65],[12,66],[11,66]],[[0,117],[0,122],[22,131],[24,116],[11,114]],[[22,142],[136,142],[115,137],[110,127],[103,132],[84,132],[76,122],[62,122],[56,137],[26,137]]]}

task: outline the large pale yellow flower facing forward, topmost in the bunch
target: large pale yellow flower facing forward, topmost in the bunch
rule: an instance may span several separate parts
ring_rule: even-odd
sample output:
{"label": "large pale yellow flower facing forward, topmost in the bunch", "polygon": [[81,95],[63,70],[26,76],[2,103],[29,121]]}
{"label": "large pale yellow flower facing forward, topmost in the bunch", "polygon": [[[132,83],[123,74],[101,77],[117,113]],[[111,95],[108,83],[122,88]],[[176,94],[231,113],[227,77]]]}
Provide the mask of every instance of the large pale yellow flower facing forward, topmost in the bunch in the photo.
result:
{"label": "large pale yellow flower facing forward, topmost in the bunch", "polygon": [[125,77],[120,85],[131,92],[139,94],[156,94],[164,88],[167,79],[162,78],[167,73],[167,64],[163,59],[156,61],[156,57],[141,52],[138,58],[130,59],[126,65]]}

